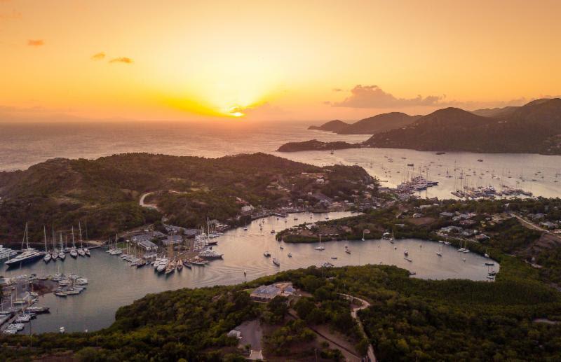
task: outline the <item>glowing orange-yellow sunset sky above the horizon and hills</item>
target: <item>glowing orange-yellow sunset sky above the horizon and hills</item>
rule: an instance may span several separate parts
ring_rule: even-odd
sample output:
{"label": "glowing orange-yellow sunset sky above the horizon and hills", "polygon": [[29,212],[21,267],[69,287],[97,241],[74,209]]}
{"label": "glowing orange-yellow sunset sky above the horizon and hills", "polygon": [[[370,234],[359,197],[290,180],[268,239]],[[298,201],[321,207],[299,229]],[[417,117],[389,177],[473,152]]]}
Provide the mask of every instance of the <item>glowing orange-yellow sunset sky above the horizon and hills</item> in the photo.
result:
{"label": "glowing orange-yellow sunset sky above the horizon and hills", "polygon": [[0,121],[356,120],[561,94],[561,1],[0,0]]}

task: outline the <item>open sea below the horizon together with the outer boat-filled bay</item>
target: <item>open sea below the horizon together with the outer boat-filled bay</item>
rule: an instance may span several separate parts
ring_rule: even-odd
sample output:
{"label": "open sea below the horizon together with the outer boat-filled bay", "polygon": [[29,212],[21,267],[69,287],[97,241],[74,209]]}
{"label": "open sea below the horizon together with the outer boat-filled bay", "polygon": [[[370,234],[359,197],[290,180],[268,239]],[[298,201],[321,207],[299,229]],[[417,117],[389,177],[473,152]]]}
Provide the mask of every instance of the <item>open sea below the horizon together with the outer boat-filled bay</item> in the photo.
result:
{"label": "open sea below the horizon together with the outer boat-filled bay", "polygon": [[[423,174],[439,186],[422,197],[453,197],[463,186],[501,185],[544,197],[561,195],[561,156],[433,152],[391,148],[360,148],[329,152],[276,153],[285,142],[360,142],[367,135],[339,135],[306,130],[308,123],[83,123],[6,125],[0,123],[0,171],[25,169],[48,158],[98,158],[114,153],[150,152],[220,157],[266,152],[313,165],[360,165],[372,176],[396,186],[404,178]],[[393,162],[389,162],[388,159]],[[483,162],[478,162],[482,158]],[[413,167],[407,164],[413,163]],[[446,175],[450,174],[450,178]],[[464,179],[459,179],[460,173]],[[509,177],[510,176],[510,177]],[[522,181],[523,180],[523,181]],[[558,182],[557,182],[558,181]]]}

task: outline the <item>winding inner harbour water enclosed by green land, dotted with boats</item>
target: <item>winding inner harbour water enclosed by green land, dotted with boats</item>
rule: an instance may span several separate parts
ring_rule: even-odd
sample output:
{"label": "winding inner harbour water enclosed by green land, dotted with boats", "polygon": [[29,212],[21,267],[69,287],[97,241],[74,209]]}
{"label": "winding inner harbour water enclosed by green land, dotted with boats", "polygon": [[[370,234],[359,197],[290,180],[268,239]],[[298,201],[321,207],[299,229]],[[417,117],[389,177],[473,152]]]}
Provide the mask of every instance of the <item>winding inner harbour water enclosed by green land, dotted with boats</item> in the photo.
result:
{"label": "winding inner harbour water enclosed by green land, dotted with boats", "polygon": [[[75,272],[87,277],[90,281],[86,291],[80,295],[58,298],[53,294],[41,296],[38,305],[50,307],[50,314],[43,314],[32,321],[34,333],[58,331],[65,326],[67,331],[97,330],[109,326],[114,321],[116,310],[142,298],[147,293],[157,293],[177,288],[194,288],[200,286],[238,284],[246,280],[256,279],[274,274],[278,270],[295,269],[320,265],[330,261],[336,266],[365,265],[384,263],[397,265],[417,273],[416,277],[427,279],[472,279],[487,280],[486,260],[475,253],[458,253],[453,246],[436,242],[424,242],[418,239],[397,240],[390,244],[386,240],[349,241],[323,243],[325,251],[314,249],[318,244],[285,244],[277,242],[271,230],[282,230],[298,223],[322,221],[326,214],[293,214],[286,219],[276,217],[264,219],[263,230],[259,230],[259,221],[253,221],[248,230],[237,228],[226,232],[218,238],[216,249],[224,253],[223,260],[213,260],[205,267],[193,266],[189,270],[175,272],[167,277],[154,272],[152,267],[128,266],[118,256],[110,256],[102,250],[92,251],[91,258],[72,259],[67,257],[64,262],[49,264],[42,260],[26,265],[19,270],[5,270],[1,273],[6,277],[20,274],[47,275],[55,272]],[[350,216],[349,212],[330,213],[330,218]],[[297,216],[299,221],[294,221]],[[344,252],[348,244],[351,255]],[[280,250],[280,245],[284,250]],[[422,245],[422,247],[419,247]],[[435,252],[442,246],[442,257]],[[397,247],[397,249],[394,249]],[[404,259],[403,251],[409,250],[412,263]],[[280,267],[265,258],[263,252],[269,250],[279,258]],[[292,258],[287,254],[292,253]],[[331,257],[336,256],[337,260]],[[466,258],[464,262],[462,258]],[[499,270],[499,265],[494,266]],[[247,271],[244,277],[243,271]],[[29,328],[26,326],[26,328]],[[24,333],[28,333],[26,329]]]}

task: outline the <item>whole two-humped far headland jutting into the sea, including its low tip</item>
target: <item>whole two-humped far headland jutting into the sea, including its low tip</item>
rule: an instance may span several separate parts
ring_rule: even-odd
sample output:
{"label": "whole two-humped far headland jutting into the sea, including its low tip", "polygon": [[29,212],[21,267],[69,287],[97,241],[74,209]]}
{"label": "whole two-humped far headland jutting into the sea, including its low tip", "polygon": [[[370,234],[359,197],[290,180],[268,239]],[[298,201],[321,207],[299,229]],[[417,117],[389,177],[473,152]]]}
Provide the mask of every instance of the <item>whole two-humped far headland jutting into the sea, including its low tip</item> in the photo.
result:
{"label": "whole two-humped far headland jutting into the sea, including its low tip", "polygon": [[364,118],[351,124],[344,123],[342,120],[332,120],[320,126],[310,126],[308,129],[334,132],[337,134],[376,134],[378,132],[410,125],[420,117],[421,116],[409,116],[401,112],[391,112]]}

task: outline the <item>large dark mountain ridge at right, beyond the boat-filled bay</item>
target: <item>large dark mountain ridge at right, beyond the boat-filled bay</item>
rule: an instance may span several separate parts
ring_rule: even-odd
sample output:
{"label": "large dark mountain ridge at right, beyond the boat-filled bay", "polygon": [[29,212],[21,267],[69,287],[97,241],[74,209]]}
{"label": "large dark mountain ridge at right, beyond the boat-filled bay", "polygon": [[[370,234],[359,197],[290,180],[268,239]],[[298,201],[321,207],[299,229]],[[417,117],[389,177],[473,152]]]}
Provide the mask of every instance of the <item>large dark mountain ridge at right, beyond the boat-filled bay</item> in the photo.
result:
{"label": "large dark mountain ridge at right, beyond the boat-filled bay", "polygon": [[364,144],[420,151],[561,154],[561,99],[538,99],[499,114],[503,116],[440,109],[412,125],[374,134]]}

